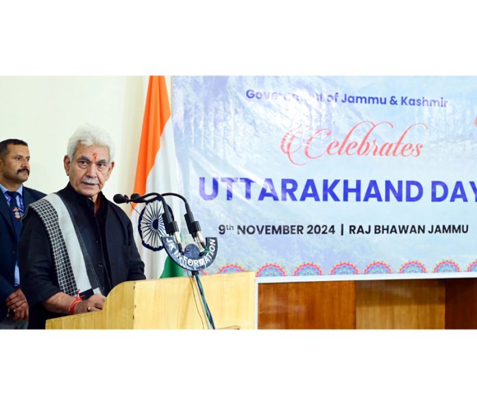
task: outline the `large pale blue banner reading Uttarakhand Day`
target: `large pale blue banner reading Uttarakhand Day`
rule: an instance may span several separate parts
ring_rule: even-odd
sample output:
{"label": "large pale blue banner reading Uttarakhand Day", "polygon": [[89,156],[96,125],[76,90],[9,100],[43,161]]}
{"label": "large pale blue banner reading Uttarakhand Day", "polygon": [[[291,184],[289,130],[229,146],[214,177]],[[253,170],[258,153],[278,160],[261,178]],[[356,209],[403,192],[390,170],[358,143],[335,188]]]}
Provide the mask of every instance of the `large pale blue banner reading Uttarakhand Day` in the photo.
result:
{"label": "large pale blue banner reading Uttarakhand Day", "polygon": [[208,273],[477,271],[476,77],[174,77]]}

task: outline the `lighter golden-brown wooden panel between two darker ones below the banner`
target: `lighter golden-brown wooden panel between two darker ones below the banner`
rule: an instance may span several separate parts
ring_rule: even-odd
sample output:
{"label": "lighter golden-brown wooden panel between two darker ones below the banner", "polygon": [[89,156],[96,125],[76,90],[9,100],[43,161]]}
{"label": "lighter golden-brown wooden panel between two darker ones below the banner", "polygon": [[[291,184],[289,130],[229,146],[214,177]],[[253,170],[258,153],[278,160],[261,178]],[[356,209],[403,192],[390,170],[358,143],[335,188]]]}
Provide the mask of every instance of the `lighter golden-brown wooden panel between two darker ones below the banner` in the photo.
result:
{"label": "lighter golden-brown wooden panel between two darker ones below the banner", "polygon": [[356,282],[357,329],[443,329],[443,280]]}

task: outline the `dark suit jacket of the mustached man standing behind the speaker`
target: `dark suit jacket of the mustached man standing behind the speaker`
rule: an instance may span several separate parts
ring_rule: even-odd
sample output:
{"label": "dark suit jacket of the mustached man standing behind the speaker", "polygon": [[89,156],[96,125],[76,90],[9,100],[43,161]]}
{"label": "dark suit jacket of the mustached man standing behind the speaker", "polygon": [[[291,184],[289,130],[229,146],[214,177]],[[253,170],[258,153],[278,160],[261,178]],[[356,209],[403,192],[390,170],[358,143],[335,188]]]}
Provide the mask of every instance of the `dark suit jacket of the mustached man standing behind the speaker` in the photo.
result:
{"label": "dark suit jacket of the mustached man standing behind the speaker", "polygon": [[[23,206],[25,210],[29,204],[45,197],[45,195],[33,188],[23,186]],[[16,236],[10,217],[10,208],[5,196],[0,192],[0,321],[5,316],[5,299],[15,290],[16,249]]]}

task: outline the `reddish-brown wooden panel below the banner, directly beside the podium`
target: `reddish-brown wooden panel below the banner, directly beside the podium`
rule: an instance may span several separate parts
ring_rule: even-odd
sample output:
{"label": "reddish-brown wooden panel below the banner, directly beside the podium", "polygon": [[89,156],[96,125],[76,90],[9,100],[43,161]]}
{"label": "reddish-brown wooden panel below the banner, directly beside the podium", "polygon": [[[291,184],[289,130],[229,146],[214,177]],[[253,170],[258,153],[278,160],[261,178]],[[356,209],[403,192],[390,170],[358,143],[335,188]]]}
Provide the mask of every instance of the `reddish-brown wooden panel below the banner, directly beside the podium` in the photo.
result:
{"label": "reddish-brown wooden panel below the banner, directly beside the podium", "polygon": [[258,284],[258,329],[354,329],[353,281]]}

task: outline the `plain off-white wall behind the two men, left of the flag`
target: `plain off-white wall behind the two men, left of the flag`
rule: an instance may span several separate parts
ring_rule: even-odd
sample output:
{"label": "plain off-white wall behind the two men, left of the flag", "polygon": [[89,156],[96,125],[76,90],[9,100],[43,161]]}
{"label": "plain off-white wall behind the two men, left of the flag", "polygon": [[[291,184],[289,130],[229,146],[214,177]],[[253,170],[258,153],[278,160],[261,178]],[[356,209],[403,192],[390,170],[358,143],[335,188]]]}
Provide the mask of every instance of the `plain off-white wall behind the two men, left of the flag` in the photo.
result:
{"label": "plain off-white wall behind the two men, left of the flag", "polygon": [[32,172],[25,186],[52,193],[68,182],[62,166],[68,138],[83,123],[99,125],[117,147],[116,166],[103,192],[110,199],[115,193],[129,195],[146,92],[147,77],[142,76],[0,76],[0,140],[28,143]]}

